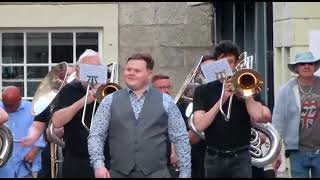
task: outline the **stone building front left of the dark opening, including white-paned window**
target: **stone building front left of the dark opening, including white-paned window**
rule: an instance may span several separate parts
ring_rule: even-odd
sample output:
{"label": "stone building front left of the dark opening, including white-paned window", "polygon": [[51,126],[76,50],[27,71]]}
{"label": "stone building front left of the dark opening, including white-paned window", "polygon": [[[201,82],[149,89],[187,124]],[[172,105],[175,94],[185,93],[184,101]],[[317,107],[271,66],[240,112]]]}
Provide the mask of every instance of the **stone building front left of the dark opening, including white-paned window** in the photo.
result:
{"label": "stone building front left of the dark opening, including white-paned window", "polygon": [[19,86],[26,99],[53,65],[74,64],[86,48],[104,64],[118,63],[119,75],[131,54],[150,53],[155,73],[170,75],[174,91],[213,49],[211,4],[2,2],[0,16],[0,88]]}

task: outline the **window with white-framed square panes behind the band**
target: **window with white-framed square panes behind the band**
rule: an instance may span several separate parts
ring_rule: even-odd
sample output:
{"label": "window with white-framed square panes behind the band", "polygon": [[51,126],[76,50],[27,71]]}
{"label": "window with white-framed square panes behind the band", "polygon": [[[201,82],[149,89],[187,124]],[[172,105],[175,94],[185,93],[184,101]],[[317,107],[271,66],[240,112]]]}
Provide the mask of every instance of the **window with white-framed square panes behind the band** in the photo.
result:
{"label": "window with white-framed square panes behind the band", "polygon": [[0,88],[18,86],[32,99],[51,67],[76,63],[85,49],[99,51],[99,30],[0,31]]}

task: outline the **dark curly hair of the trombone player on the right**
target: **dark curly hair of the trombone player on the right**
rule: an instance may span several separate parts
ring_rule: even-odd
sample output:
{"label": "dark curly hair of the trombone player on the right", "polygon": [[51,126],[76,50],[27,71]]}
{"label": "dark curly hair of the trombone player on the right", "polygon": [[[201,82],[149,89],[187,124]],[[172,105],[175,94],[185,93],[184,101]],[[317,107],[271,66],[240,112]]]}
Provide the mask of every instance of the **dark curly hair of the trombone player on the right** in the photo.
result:
{"label": "dark curly hair of the trombone player on the right", "polygon": [[240,50],[237,44],[230,40],[223,40],[220,43],[218,43],[213,52],[214,59],[218,59],[218,57],[221,55],[228,55],[232,54],[236,57],[236,60],[239,59],[240,56]]}

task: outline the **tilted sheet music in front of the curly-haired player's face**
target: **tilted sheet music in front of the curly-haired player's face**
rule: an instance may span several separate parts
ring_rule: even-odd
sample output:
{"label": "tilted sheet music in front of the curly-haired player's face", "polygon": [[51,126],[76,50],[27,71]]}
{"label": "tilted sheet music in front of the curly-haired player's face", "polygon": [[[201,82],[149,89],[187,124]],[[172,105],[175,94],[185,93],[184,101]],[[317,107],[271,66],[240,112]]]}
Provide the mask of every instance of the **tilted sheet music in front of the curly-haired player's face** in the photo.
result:
{"label": "tilted sheet music in front of the curly-haired player's face", "polygon": [[225,76],[232,76],[232,70],[227,59],[220,59],[209,64],[201,65],[201,71],[207,83]]}

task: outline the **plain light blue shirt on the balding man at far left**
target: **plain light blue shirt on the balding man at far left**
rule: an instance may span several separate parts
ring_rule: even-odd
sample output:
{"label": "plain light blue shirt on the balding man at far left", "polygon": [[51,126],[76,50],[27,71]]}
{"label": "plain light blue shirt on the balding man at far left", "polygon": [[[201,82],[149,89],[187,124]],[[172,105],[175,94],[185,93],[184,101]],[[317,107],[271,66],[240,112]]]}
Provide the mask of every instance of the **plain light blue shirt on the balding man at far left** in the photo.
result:
{"label": "plain light blue shirt on the balding man at far left", "polygon": [[[2,102],[0,102],[0,107],[4,108]],[[33,146],[23,147],[19,143],[23,137],[28,135],[29,127],[34,119],[34,116],[31,114],[31,102],[22,100],[18,111],[8,114],[9,120],[4,125],[11,130],[14,143],[10,159],[2,168],[0,168],[0,178],[14,178],[15,176],[21,178],[29,175],[28,170],[22,164],[24,157],[30,152],[32,147],[44,147],[45,142],[43,135],[41,135]],[[31,167],[33,172],[37,172],[40,169],[41,151],[36,155]]]}

